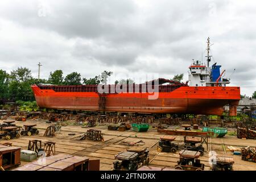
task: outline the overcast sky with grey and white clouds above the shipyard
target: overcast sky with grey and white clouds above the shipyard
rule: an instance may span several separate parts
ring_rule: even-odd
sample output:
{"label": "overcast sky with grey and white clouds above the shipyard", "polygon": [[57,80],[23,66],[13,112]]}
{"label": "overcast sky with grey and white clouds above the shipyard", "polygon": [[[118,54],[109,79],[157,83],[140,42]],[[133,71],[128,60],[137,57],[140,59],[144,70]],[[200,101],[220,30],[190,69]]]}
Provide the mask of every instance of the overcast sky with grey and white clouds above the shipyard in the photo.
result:
{"label": "overcast sky with grey and white clouds above the shipyard", "polygon": [[[205,61],[207,37],[217,62],[251,96],[256,90],[256,2],[170,0],[0,1],[0,69],[27,67],[41,77],[62,69],[110,82],[171,78]],[[236,69],[235,72],[234,69]]]}

